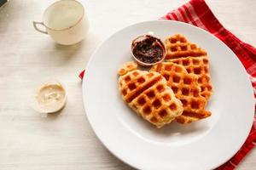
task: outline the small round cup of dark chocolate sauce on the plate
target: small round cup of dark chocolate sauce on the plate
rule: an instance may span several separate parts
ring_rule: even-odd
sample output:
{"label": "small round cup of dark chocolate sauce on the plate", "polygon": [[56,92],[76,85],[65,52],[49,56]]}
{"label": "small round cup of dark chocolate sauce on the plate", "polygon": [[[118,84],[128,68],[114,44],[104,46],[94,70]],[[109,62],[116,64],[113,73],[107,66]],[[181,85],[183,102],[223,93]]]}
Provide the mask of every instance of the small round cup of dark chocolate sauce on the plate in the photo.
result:
{"label": "small round cup of dark chocolate sauce on the plate", "polygon": [[131,42],[131,54],[139,65],[150,66],[165,59],[166,47],[159,37],[143,34]]}

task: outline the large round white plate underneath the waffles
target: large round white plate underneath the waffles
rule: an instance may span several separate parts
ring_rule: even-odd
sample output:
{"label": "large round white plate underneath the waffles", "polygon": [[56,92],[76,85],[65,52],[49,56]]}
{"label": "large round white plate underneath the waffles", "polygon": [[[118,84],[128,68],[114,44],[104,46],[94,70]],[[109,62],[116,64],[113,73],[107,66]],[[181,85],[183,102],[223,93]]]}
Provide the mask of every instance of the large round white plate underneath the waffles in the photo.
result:
{"label": "large round white plate underneath the waffles", "polygon": [[[162,39],[181,33],[207,49],[214,90],[207,105],[211,117],[157,129],[125,105],[117,71],[131,60],[131,39],[148,31]],[[218,167],[240,149],[253,123],[253,88],[236,55],[207,31],[177,21],[138,23],[102,42],[87,65],[83,95],[97,137],[119,159],[140,169]]]}

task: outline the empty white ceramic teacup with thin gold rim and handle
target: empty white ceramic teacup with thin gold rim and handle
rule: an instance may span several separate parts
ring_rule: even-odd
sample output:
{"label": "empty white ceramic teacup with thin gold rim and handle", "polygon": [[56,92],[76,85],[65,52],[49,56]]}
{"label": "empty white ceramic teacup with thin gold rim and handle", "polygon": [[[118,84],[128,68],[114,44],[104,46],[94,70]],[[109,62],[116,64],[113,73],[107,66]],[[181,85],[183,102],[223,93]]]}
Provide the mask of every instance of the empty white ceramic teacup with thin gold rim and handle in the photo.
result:
{"label": "empty white ceramic teacup with thin gold rim and handle", "polygon": [[[40,30],[38,25],[44,26],[45,31]],[[62,45],[82,41],[89,30],[84,7],[75,0],[60,0],[51,4],[44,11],[43,22],[33,21],[33,26]]]}

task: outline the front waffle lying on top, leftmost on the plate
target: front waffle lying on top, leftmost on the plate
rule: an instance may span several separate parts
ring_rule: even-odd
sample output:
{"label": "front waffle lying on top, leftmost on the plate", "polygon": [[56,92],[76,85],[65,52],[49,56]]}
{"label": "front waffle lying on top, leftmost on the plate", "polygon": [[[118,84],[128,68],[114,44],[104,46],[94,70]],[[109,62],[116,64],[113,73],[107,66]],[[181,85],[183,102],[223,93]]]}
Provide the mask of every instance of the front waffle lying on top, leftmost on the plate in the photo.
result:
{"label": "front waffle lying on top, leftmost on the plate", "polygon": [[128,71],[119,77],[119,91],[137,115],[156,127],[172,122],[183,112],[181,101],[167,86],[166,79],[155,71]]}

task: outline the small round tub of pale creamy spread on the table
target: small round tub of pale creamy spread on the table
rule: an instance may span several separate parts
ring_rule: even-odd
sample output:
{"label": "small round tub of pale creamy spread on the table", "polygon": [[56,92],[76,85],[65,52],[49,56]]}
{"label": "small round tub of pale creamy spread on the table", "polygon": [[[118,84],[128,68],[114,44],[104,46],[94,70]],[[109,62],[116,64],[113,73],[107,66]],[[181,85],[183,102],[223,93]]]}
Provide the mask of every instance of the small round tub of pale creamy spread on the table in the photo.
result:
{"label": "small round tub of pale creamy spread on the table", "polygon": [[40,111],[60,111],[66,102],[66,92],[59,82],[46,83],[39,88],[36,100]]}

